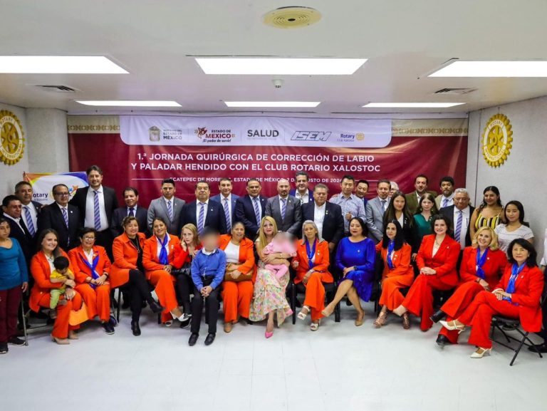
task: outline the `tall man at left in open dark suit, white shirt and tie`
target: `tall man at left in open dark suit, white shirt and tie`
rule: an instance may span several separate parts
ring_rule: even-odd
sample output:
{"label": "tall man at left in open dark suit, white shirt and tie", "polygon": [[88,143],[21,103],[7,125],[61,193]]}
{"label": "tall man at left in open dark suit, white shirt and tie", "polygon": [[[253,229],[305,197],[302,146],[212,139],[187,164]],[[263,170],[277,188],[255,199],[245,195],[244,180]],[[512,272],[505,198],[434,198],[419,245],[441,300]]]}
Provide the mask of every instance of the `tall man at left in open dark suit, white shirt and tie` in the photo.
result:
{"label": "tall man at left in open dark suit, white shirt and tie", "polygon": [[103,186],[103,170],[98,165],[90,166],[86,174],[89,187],[77,189],[70,204],[78,207],[83,227],[97,230],[95,244],[105,247],[112,259],[114,238],[109,228],[114,210],[118,208],[116,192],[110,187]]}

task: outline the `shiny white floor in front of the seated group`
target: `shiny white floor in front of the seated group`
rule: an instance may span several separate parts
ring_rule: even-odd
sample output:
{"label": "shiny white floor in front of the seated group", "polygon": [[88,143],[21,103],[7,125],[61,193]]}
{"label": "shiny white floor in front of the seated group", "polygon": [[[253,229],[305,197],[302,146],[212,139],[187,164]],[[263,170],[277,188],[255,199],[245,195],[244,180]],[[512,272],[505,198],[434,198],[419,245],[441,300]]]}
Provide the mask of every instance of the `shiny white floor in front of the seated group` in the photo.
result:
{"label": "shiny white floor in front of the seated group", "polygon": [[92,323],[68,346],[36,331],[0,357],[0,409],[546,410],[547,358],[523,350],[509,367],[512,352],[494,345],[473,360],[467,344],[438,348],[437,328],[405,331],[390,316],[377,330],[372,304],[365,310],[360,328],[343,304],[341,323],[328,318],[312,333],[308,321],[288,321],[269,340],[264,324],[225,334],[219,322],[209,347],[204,328],[190,348],[188,330],[158,326],[148,312],[138,338],[127,314],[115,335]]}

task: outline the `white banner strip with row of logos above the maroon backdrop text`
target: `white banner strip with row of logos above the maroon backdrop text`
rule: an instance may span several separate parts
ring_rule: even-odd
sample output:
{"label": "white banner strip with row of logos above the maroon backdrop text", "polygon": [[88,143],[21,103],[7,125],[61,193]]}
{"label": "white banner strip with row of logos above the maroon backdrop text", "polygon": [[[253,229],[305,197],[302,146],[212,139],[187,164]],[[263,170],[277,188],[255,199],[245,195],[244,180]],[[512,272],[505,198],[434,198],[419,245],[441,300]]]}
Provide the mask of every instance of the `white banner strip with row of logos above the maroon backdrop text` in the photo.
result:
{"label": "white banner strip with row of logos above the maroon backdrop text", "polygon": [[120,115],[127,145],[379,148],[391,134],[391,120]]}

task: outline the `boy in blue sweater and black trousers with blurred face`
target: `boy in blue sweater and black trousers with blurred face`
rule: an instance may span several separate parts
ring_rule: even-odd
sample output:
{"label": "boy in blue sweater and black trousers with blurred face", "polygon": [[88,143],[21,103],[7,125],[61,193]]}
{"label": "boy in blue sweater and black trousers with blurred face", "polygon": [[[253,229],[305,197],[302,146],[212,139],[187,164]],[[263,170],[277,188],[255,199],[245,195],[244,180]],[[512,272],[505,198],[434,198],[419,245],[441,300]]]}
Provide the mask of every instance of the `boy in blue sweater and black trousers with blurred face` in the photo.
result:
{"label": "boy in blue sweater and black trousers with blurred face", "polygon": [[188,345],[195,345],[199,337],[199,326],[202,322],[202,310],[205,304],[205,316],[209,319],[209,333],[205,345],[211,345],[217,335],[217,318],[219,317],[220,284],[226,270],[226,254],[219,249],[219,233],[206,227],[201,236],[202,249],[197,251],[192,260],[192,281],[194,297],[192,298],[192,334]]}

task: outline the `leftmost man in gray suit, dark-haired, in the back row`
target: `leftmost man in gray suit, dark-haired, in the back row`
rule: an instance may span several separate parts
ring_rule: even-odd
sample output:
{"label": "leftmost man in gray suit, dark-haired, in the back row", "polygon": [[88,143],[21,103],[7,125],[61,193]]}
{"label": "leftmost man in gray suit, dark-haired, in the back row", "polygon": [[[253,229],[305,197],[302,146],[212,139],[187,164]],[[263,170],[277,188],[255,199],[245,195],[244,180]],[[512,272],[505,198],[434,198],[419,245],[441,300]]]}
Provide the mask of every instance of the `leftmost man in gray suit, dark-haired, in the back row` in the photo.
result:
{"label": "leftmost man in gray suit, dark-haired, in the back row", "polygon": [[152,222],[156,217],[161,217],[167,223],[167,232],[174,236],[180,236],[180,212],[184,200],[174,197],[176,189],[174,180],[166,178],[162,181],[162,197],[153,199],[148,207],[147,224],[148,230],[152,232]]}

